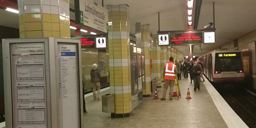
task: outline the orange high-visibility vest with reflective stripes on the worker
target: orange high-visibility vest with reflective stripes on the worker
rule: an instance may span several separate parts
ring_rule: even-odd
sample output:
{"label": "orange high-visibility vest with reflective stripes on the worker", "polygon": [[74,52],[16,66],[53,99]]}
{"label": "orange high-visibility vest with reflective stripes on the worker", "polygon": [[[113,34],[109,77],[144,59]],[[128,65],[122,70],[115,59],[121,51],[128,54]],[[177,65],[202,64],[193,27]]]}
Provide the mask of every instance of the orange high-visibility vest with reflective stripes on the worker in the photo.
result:
{"label": "orange high-visibility vest with reflective stripes on the worker", "polygon": [[176,65],[173,64],[173,62],[166,63],[164,79],[165,80],[174,80],[175,79],[175,72],[174,72],[175,69],[176,69]]}

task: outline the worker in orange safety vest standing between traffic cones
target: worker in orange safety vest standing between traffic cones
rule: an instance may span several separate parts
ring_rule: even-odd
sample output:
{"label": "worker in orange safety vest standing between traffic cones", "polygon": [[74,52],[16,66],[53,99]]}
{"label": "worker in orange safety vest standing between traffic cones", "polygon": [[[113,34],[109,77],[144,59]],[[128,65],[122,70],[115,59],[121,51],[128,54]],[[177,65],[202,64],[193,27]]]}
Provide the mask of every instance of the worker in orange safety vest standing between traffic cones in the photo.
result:
{"label": "worker in orange safety vest standing between traffic cones", "polygon": [[163,97],[160,100],[166,100],[166,90],[170,86],[170,100],[173,100],[173,86],[174,86],[174,80],[175,80],[175,73],[177,73],[176,65],[173,64],[173,57],[170,57],[170,62],[165,64],[165,70],[164,70],[164,91],[163,91]]}

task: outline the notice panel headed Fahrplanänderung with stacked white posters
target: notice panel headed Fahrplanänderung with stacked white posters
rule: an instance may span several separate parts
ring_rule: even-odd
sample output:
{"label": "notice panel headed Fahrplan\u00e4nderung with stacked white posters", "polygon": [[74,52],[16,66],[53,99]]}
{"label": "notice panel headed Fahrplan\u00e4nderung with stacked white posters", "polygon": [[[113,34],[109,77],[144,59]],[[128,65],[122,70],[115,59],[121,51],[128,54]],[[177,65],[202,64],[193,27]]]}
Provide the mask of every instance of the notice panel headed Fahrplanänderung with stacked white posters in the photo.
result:
{"label": "notice panel headed Fahrplan\u00e4nderung with stacked white posters", "polygon": [[45,44],[10,45],[14,128],[47,128]]}

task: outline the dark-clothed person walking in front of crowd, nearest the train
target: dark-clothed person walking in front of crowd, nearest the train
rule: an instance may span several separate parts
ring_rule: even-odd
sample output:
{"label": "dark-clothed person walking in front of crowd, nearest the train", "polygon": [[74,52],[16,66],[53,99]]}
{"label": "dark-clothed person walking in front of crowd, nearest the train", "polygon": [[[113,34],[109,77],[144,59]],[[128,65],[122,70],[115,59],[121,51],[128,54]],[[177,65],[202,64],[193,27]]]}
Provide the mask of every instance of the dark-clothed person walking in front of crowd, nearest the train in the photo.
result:
{"label": "dark-clothed person walking in front of crowd, nearest the train", "polygon": [[197,89],[200,90],[200,74],[202,72],[201,66],[199,66],[198,62],[196,61],[194,66],[191,69],[191,76],[194,81],[194,91]]}

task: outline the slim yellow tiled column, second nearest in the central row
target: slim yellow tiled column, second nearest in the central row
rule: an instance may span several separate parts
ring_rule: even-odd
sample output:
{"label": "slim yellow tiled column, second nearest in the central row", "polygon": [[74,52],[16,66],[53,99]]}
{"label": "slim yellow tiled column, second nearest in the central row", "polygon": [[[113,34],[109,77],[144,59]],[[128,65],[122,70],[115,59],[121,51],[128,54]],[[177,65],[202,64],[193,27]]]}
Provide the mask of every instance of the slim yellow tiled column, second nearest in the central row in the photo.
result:
{"label": "slim yellow tiled column, second nearest in the central row", "polygon": [[150,96],[151,93],[151,77],[150,77],[150,50],[149,50],[149,24],[140,26],[141,30],[141,47],[144,47],[145,53],[145,89],[143,96]]}

